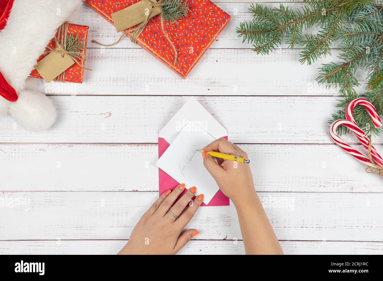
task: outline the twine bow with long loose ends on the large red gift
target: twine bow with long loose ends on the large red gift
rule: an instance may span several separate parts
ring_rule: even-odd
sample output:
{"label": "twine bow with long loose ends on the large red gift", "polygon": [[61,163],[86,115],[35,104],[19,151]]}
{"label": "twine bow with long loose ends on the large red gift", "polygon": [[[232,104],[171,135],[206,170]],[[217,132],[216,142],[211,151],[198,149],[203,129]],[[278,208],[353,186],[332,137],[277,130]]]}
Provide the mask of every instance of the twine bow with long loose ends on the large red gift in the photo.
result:
{"label": "twine bow with long loose ends on the large red gift", "polygon": [[161,30],[162,30],[162,33],[164,33],[167,41],[169,41],[170,45],[172,46],[172,49],[173,49],[173,52],[174,52],[174,60],[173,60],[173,64],[176,64],[177,63],[177,57],[178,57],[178,52],[177,52],[177,49],[175,48],[175,45],[173,44],[172,41],[170,41],[170,37],[169,35],[167,34],[167,32],[165,32],[165,27],[164,27],[164,10],[162,10],[162,6],[165,5],[165,0],[158,0],[157,3],[154,3],[150,0],[141,0],[141,1],[146,1],[148,3],[150,3],[151,5],[149,6],[149,11],[146,11],[145,15],[146,15],[146,19],[145,21],[142,21],[142,23],[139,23],[135,28],[133,29],[130,29],[128,31],[125,31],[120,37],[119,39],[113,43],[113,44],[101,44],[100,42],[96,41],[96,40],[92,40],[93,43],[96,43],[96,44],[99,44],[101,46],[106,46],[106,47],[110,47],[110,46],[113,46],[113,45],[116,45],[119,41],[121,41],[122,37],[124,35],[127,35],[127,34],[130,34],[129,35],[129,39],[130,41],[132,41],[134,44],[137,44],[137,39],[138,37],[140,36],[140,34],[142,33],[142,31],[144,30],[145,26],[149,23],[150,21],[150,17],[149,15],[151,14],[151,11],[153,8],[155,7],[158,7],[160,9],[160,22],[161,22]]}

